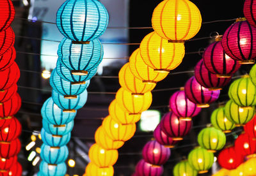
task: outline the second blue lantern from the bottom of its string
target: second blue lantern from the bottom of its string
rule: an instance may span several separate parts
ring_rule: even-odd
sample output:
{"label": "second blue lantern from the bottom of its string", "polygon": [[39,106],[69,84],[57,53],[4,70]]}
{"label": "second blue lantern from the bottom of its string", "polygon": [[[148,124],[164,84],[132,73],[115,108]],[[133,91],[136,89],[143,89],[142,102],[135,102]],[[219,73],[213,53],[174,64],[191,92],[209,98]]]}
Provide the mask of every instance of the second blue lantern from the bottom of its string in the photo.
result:
{"label": "second blue lantern from the bottom of its string", "polygon": [[62,147],[51,147],[43,143],[40,156],[46,163],[57,165],[65,162],[68,158],[68,147],[67,145],[63,145]]}

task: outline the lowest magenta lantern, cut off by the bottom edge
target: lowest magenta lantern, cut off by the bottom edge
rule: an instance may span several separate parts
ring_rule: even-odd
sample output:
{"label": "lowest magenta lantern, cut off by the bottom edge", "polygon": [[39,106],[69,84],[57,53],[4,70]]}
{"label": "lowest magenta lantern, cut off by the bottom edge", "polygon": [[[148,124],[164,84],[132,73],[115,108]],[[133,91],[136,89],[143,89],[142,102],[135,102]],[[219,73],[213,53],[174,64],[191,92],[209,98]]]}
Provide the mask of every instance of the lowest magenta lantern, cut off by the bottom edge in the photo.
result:
{"label": "lowest magenta lantern, cut off by the bottom edge", "polygon": [[141,159],[136,165],[136,176],[160,176],[163,172],[163,166],[152,166],[143,159]]}

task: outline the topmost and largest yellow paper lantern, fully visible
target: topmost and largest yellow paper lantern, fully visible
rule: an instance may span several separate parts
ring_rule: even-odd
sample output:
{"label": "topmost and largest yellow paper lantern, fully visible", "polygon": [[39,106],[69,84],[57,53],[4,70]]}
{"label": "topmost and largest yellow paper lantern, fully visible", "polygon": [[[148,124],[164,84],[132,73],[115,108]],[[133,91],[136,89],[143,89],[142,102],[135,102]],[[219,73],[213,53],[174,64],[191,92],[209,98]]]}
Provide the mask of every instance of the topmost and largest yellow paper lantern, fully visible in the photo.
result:
{"label": "topmost and largest yellow paper lantern, fully visible", "polygon": [[152,14],[154,31],[170,42],[184,42],[193,38],[201,24],[200,11],[188,0],[164,0]]}

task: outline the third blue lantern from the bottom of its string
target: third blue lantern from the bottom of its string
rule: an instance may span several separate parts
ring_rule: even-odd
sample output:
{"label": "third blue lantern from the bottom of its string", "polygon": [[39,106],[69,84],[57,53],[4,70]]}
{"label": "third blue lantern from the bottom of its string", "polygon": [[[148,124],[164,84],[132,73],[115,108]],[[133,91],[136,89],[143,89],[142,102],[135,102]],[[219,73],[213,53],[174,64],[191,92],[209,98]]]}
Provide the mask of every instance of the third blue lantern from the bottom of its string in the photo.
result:
{"label": "third blue lantern from the bottom of its string", "polygon": [[45,131],[44,128],[41,129],[42,141],[51,147],[61,147],[63,145],[67,145],[70,140],[71,133],[67,133],[67,135],[58,136],[52,135]]}

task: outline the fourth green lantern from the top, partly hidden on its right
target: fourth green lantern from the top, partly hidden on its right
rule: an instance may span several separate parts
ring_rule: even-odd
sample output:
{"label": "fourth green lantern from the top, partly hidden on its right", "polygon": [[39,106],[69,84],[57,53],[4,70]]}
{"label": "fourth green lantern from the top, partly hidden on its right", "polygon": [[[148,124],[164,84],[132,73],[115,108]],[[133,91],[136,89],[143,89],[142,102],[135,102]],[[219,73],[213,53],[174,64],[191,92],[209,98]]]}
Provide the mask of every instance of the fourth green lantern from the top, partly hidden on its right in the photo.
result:
{"label": "fourth green lantern from the top, partly hidden on its right", "polygon": [[211,124],[214,128],[221,129],[224,133],[230,133],[236,126],[225,115],[225,107],[216,108],[211,114]]}

